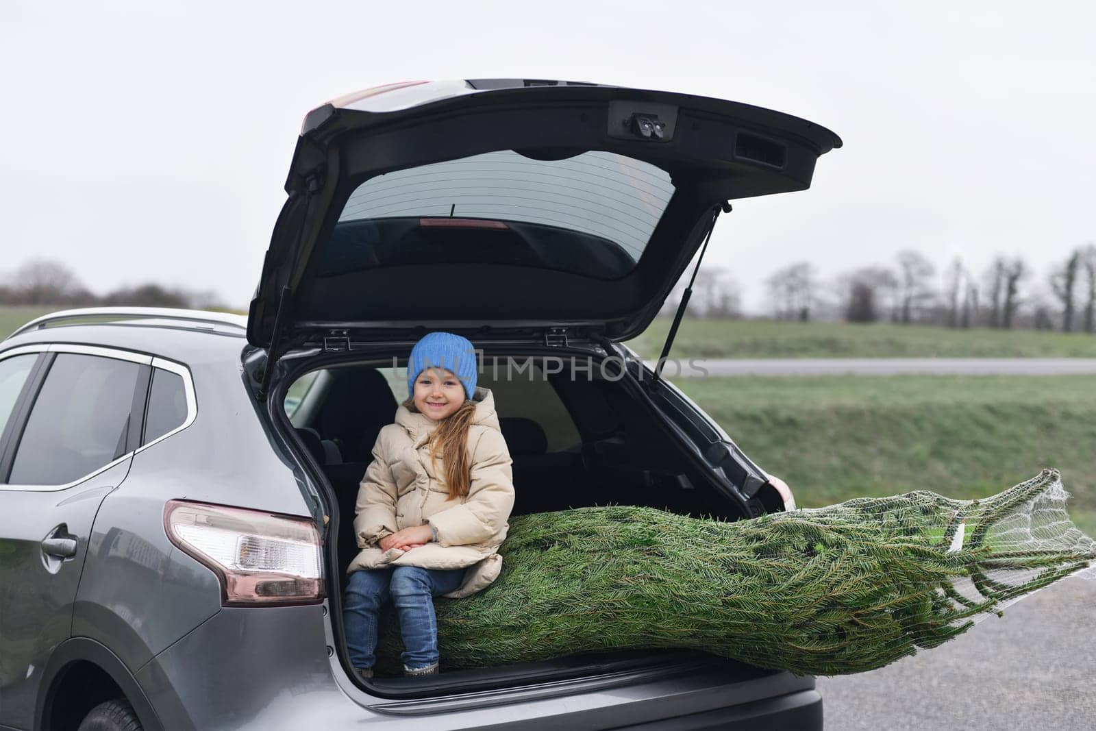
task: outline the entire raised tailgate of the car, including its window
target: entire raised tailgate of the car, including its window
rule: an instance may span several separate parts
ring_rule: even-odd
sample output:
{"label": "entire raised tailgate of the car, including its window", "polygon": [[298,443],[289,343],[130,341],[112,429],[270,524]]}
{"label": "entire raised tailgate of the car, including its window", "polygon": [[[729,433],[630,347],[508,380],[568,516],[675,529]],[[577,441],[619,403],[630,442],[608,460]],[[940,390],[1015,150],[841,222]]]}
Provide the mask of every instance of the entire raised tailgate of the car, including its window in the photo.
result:
{"label": "entire raised tailgate of the car, including its window", "polygon": [[248,339],[278,351],[418,328],[627,339],[717,206],[804,190],[840,146],[756,106],[576,82],[411,82],[333,100],[305,118]]}

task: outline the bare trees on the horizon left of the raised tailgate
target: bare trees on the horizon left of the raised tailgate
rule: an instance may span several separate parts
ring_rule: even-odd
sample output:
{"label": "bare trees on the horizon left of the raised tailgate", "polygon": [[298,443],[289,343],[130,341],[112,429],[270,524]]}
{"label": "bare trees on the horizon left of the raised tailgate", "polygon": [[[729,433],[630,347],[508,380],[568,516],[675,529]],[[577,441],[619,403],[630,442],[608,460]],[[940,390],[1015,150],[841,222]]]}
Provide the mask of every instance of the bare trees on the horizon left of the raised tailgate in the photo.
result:
{"label": "bare trees on the horizon left of the raised tailgate", "polygon": [[25,306],[140,306],[210,309],[222,307],[210,292],[192,292],[155,283],[119,287],[105,295],[89,290],[60,262],[36,259],[24,263],[0,282],[0,305]]}

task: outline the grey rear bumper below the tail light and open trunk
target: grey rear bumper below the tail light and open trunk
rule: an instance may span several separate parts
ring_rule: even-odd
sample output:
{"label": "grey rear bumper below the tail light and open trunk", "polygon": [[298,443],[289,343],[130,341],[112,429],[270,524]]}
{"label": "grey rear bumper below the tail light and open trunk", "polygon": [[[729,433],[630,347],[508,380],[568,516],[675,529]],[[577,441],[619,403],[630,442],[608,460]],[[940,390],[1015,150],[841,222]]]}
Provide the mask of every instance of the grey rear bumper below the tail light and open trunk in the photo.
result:
{"label": "grey rear bumper below the tail light and open trunk", "polygon": [[136,676],[167,731],[822,728],[814,678],[719,667],[381,698],[329,656],[329,631],[321,606],[222,608]]}

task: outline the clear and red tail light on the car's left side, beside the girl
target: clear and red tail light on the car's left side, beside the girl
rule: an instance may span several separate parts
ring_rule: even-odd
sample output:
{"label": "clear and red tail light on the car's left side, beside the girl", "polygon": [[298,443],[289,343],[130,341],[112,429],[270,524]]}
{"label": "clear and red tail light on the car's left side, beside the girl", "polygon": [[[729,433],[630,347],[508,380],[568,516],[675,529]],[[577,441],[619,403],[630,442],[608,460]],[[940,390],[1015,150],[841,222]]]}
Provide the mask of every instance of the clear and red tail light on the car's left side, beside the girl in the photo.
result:
{"label": "clear and red tail light on the car's left side, beside the girl", "polygon": [[323,601],[320,534],[308,518],[172,500],[163,525],[172,544],[217,574],[225,606]]}

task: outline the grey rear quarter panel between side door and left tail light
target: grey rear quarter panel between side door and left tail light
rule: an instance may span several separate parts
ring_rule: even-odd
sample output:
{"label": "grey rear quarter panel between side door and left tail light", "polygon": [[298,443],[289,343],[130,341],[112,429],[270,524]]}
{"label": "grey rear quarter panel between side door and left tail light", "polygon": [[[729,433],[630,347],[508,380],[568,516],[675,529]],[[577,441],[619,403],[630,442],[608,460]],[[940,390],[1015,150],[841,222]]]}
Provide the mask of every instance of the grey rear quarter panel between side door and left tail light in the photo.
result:
{"label": "grey rear quarter panel between side door and left tail light", "polygon": [[[130,333],[121,330],[124,339]],[[272,448],[243,387],[243,340],[189,336],[209,341],[204,355],[189,354],[197,415],[186,429],[139,450],[129,482],[104,501],[72,623],[73,635],[111,647],[134,672],[220,610],[217,576],[167,537],[169,500],[286,515],[319,511],[306,500],[315,496],[302,491],[299,466]]]}

